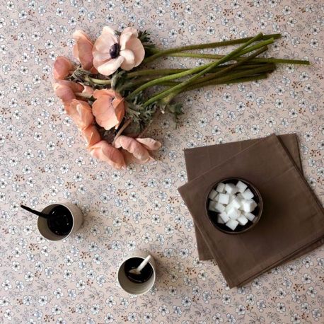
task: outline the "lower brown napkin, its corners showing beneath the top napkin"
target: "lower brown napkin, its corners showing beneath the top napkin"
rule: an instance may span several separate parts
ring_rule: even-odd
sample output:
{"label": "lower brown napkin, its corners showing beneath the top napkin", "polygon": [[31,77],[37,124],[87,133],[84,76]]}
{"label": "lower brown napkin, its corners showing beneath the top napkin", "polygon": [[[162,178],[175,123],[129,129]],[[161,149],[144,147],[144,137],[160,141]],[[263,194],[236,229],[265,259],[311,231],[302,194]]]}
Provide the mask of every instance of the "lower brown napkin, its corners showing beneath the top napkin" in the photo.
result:
{"label": "lower brown napkin, its corners showing beneath the top napkin", "polygon": [[[279,135],[278,138],[289,151],[291,158],[294,159],[299,170],[301,170],[301,158],[296,134]],[[248,139],[245,141],[233,141],[231,143],[185,149],[185,166],[187,168],[188,181],[197,178],[213,166],[219,165],[248,146],[255,144],[257,141],[260,141],[260,139]],[[211,260],[213,258],[212,253],[209,251],[196,225],[195,234],[199,260]],[[316,247],[319,245],[316,245]]]}

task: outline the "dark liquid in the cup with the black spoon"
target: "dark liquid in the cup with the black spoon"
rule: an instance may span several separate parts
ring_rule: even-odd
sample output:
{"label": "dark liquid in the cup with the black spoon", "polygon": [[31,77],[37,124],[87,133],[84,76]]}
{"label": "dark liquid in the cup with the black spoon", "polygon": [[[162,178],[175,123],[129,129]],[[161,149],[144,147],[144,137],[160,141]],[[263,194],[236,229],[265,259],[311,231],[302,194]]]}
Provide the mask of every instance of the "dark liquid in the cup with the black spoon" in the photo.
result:
{"label": "dark liquid in the cup with the black spoon", "polygon": [[64,206],[54,207],[50,212],[50,217],[47,219],[47,226],[59,236],[69,234],[73,227],[73,217],[69,209]]}

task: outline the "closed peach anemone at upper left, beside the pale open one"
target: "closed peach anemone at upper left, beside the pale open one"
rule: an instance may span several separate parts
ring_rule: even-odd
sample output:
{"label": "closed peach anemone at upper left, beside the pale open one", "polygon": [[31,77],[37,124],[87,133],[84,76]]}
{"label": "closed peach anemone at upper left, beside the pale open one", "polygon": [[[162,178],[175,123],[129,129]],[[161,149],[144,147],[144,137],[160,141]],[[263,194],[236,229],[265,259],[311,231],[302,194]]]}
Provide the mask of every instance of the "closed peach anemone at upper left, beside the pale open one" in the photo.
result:
{"label": "closed peach anemone at upper left, beside the pale open one", "polygon": [[93,43],[91,39],[83,30],[76,30],[73,33],[73,38],[76,41],[73,47],[73,56],[81,63],[82,69],[96,74],[97,70],[93,67]]}

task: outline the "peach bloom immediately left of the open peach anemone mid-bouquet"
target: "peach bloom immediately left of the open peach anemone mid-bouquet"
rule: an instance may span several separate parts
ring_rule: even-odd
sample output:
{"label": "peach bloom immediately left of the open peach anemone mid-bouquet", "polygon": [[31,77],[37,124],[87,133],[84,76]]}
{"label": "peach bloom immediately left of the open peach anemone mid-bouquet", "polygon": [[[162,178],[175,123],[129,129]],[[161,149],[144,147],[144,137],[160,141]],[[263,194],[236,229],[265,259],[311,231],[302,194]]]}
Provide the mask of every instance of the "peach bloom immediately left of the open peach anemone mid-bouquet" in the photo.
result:
{"label": "peach bloom immediately left of the open peach anemone mid-bouquet", "polygon": [[85,101],[73,99],[65,105],[65,111],[81,130],[86,129],[95,121],[91,106]]}

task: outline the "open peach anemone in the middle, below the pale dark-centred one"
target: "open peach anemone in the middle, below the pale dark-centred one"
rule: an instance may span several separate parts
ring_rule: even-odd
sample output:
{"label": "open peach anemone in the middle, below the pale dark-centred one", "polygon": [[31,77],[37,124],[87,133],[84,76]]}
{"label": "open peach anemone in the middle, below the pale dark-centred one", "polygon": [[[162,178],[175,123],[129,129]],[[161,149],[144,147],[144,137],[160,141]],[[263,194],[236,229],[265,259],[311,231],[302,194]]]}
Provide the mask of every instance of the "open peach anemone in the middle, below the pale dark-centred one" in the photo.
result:
{"label": "open peach anemone in the middle, below the pale dark-centred one", "polygon": [[96,90],[93,92],[96,101],[92,105],[96,122],[106,130],[120,125],[125,115],[125,100],[112,89]]}

